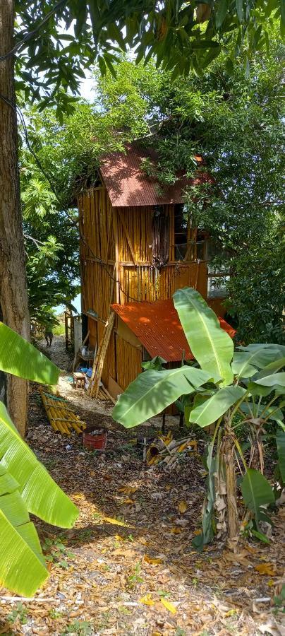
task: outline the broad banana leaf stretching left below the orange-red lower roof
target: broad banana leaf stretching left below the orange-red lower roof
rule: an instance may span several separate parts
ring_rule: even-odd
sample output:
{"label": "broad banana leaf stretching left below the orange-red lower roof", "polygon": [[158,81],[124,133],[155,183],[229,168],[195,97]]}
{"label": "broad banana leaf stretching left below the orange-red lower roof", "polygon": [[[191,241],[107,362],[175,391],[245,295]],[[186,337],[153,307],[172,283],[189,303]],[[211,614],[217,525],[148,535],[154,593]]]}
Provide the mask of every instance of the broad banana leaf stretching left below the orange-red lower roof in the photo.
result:
{"label": "broad banana leaf stretching left below the orange-red lower roof", "polygon": [[211,379],[210,373],[188,367],[140,373],[119,396],[112,417],[125,428],[138,426],[164,411],[181,395],[193,393]]}

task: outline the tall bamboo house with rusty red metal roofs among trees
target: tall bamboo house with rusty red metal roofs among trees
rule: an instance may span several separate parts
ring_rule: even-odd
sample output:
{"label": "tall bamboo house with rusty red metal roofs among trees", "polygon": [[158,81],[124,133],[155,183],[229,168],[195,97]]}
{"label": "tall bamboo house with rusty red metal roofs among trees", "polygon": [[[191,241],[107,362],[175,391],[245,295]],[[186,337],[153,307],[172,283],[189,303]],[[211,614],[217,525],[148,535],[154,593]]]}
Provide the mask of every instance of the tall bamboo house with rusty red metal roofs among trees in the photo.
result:
{"label": "tall bamboo house with rusty red metal roofs among trees", "polygon": [[197,157],[195,179],[181,174],[162,187],[144,167],[155,160],[153,150],[133,143],[126,153],[104,158],[95,187],[79,197],[82,309],[97,351],[96,395],[102,378],[117,396],[154,355],[169,365],[191,357],[171,300],[176,289],[197,289],[224,314],[219,274],[208,263],[209,238],[191,226],[183,204],[187,186],[211,177]]}

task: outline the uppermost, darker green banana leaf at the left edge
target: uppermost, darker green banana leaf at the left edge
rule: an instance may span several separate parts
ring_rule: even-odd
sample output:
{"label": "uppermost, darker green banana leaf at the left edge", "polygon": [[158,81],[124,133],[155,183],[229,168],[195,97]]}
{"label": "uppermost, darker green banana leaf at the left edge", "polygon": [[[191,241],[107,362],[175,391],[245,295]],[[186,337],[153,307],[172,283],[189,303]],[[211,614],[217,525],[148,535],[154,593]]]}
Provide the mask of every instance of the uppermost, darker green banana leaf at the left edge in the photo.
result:
{"label": "uppermost, darker green banana leaf at the left edge", "polygon": [[3,322],[0,322],[0,370],[42,384],[56,384],[60,372],[43,353]]}

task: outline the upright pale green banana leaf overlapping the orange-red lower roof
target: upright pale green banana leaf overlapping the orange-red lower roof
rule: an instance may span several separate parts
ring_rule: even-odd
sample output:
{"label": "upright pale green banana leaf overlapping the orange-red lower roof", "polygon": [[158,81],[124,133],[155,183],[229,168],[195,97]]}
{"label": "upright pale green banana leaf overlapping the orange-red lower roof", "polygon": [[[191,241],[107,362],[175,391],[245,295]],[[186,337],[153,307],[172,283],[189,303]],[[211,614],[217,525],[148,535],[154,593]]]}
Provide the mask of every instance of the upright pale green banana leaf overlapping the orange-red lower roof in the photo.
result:
{"label": "upright pale green banana leaf overlapping the orange-red lower roof", "polygon": [[178,289],[173,298],[190,349],[200,367],[208,371],[215,382],[222,379],[222,387],[231,384],[234,343],[220,326],[216,314],[195,289]]}

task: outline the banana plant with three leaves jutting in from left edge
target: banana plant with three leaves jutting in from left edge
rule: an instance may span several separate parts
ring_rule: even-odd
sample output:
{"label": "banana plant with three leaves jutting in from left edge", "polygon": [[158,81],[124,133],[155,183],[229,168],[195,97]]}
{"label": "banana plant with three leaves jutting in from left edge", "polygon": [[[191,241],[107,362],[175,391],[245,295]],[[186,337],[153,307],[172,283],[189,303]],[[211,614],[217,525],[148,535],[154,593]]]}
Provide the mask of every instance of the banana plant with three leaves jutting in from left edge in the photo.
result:
{"label": "banana plant with three leaves jutting in from left edge", "polygon": [[[60,370],[15,331],[0,323],[0,370],[56,384]],[[78,509],[37,459],[0,401],[0,585],[32,596],[48,577],[30,513],[71,528]]]}

